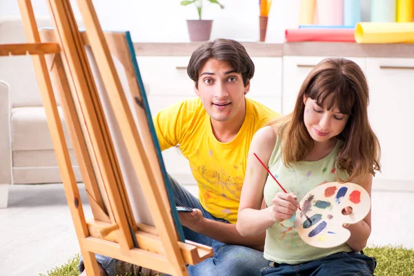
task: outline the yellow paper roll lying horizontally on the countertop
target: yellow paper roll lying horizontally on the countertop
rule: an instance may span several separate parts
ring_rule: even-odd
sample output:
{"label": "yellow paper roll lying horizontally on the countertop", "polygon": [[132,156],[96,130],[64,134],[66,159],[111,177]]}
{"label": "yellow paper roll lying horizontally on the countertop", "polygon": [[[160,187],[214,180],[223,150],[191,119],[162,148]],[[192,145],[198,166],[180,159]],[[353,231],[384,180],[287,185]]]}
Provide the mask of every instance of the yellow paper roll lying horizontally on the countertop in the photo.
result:
{"label": "yellow paper roll lying horizontally on the countertop", "polygon": [[357,23],[355,41],[357,43],[414,43],[414,23]]}

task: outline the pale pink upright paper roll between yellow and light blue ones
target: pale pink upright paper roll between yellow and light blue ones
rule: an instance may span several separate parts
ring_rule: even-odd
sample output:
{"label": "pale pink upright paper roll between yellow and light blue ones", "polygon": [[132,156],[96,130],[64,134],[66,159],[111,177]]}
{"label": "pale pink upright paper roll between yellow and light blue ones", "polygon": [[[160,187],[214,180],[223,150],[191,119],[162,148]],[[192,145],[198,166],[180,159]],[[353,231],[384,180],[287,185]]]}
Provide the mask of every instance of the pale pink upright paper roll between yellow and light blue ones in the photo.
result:
{"label": "pale pink upright paper roll between yellow and light blue ones", "polygon": [[344,25],[344,0],[317,0],[318,25]]}

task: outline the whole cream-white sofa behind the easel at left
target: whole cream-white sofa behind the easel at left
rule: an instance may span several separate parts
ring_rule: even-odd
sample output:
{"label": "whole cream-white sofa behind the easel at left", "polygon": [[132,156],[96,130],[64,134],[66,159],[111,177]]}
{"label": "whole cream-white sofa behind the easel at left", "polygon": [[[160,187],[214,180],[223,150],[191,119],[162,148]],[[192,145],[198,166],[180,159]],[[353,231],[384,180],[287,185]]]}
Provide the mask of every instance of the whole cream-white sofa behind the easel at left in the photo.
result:
{"label": "whole cream-white sofa behind the easel at left", "polygon": [[[37,23],[39,28],[51,26],[48,19]],[[0,43],[26,43],[20,19],[0,19]],[[62,122],[75,177],[81,181]],[[0,208],[7,206],[8,184],[61,183],[30,56],[0,57],[0,129]]]}

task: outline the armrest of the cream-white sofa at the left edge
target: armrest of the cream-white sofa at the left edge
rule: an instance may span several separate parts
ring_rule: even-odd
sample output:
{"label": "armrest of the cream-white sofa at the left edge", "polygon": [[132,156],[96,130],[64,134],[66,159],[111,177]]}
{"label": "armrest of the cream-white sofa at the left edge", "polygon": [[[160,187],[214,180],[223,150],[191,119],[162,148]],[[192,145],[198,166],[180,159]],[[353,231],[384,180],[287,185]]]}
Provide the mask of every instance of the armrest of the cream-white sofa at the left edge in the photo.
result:
{"label": "armrest of the cream-white sofa at the left edge", "polygon": [[0,185],[12,184],[12,145],[10,143],[10,90],[0,80]]}

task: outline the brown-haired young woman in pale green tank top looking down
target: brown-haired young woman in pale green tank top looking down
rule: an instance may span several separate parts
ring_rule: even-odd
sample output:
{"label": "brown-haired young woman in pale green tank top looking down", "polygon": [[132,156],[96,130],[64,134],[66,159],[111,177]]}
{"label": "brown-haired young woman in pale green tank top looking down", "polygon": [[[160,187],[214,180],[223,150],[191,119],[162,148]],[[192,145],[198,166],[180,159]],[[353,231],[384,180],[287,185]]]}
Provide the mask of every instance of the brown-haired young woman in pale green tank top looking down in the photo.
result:
{"label": "brown-haired young woman in pale green tank top looking down", "polygon": [[[305,244],[293,224],[299,201],[319,184],[348,181],[371,196],[380,144],[368,121],[368,86],[361,68],[324,59],[306,77],[295,110],[258,130],[248,153],[237,217],[244,236],[266,231],[261,275],[373,275],[375,259],[359,253],[371,234],[371,210],[344,225],[348,241],[335,248]],[[253,154],[288,191],[284,193]],[[261,208],[262,202],[266,206]],[[352,213],[346,208],[345,215]]]}

